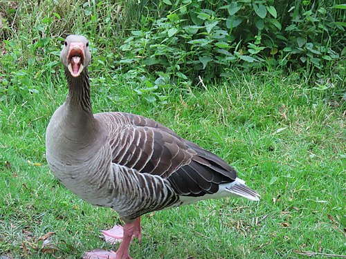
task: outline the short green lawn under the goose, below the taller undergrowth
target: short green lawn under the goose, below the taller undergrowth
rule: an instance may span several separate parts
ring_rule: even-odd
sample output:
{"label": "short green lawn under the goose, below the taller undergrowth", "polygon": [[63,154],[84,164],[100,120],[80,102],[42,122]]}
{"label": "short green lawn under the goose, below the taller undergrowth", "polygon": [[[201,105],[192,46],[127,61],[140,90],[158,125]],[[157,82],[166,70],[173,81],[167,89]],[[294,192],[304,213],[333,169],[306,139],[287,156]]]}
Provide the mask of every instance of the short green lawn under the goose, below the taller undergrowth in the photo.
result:
{"label": "short green lawn under the goose, below the taller undergrowth", "polygon": [[[1,256],[20,258],[26,247],[30,258],[53,258],[32,248],[41,248],[37,239],[50,231],[54,254],[62,258],[117,248],[98,236],[120,222],[118,215],[82,202],[46,165],[45,128],[66,95],[57,71],[52,84],[37,83],[39,93],[0,103]],[[93,81],[96,76],[91,71]],[[103,86],[92,86],[94,111],[152,117],[223,157],[262,195],[258,204],[226,198],[145,215],[143,242],[132,243],[131,256],[296,258],[295,250],[345,255],[343,106],[330,106],[295,75],[233,77],[208,90],[171,86],[167,104],[147,102],[126,75],[108,76]]]}

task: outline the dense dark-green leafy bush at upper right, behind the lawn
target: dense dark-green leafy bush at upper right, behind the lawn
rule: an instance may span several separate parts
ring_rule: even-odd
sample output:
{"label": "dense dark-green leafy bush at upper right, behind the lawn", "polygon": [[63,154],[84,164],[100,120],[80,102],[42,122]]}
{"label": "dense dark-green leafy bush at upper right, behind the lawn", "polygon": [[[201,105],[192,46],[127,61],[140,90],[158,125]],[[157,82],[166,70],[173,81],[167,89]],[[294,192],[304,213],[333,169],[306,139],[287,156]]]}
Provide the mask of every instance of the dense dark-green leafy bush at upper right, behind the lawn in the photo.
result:
{"label": "dense dark-green leafy bush at upper right, behind the lawn", "polygon": [[233,66],[326,72],[345,53],[339,2],[133,1],[140,19],[118,65],[179,80],[212,79]]}

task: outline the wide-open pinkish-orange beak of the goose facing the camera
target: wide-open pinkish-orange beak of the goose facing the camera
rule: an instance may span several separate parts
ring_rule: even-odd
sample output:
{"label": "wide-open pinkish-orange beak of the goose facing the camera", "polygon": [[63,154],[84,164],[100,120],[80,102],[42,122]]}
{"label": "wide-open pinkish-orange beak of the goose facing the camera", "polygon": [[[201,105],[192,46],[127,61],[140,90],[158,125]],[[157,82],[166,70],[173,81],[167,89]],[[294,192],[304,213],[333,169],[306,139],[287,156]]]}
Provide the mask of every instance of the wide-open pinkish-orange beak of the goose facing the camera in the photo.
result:
{"label": "wide-open pinkish-orange beak of the goose facing the camera", "polygon": [[82,73],[84,59],[84,44],[71,42],[69,54],[67,55],[67,67],[73,77],[79,77],[80,73]]}

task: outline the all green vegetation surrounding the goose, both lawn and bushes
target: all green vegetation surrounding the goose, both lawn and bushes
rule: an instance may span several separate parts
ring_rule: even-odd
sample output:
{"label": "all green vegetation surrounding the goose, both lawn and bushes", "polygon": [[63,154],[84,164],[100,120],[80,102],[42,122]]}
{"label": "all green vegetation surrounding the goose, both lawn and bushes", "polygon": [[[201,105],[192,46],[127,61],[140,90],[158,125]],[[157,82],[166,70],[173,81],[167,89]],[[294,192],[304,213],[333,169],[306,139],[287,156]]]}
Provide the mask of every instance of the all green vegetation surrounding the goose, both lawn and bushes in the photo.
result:
{"label": "all green vegetation surrounding the goose, both lawn and bushes", "polygon": [[45,160],[70,33],[91,40],[95,112],[152,117],[262,195],[151,213],[131,256],[345,256],[345,15],[336,0],[1,2],[0,258],[116,250],[98,238],[116,213]]}

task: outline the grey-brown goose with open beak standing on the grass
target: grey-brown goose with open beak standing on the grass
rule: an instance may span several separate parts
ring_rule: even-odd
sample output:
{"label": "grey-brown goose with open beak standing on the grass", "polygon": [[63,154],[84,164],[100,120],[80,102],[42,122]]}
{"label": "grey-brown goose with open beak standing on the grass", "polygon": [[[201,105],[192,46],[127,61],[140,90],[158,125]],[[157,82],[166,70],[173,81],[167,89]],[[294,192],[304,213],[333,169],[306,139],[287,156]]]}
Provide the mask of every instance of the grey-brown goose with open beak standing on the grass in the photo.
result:
{"label": "grey-brown goose with open beak standing on the grass", "polygon": [[[113,258],[131,258],[129,245],[134,237],[140,240],[145,213],[228,196],[259,200],[224,160],[153,119],[93,114],[86,37],[66,37],[60,60],[69,93],[47,126],[46,160],[67,189],[90,204],[110,207],[125,222]],[[95,258],[102,257],[98,251]]]}

